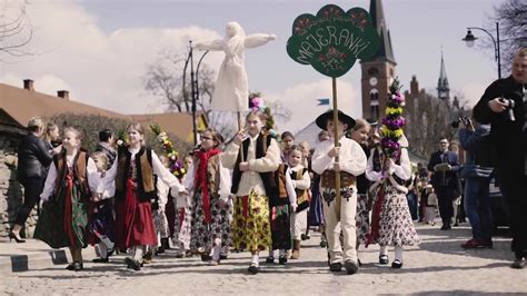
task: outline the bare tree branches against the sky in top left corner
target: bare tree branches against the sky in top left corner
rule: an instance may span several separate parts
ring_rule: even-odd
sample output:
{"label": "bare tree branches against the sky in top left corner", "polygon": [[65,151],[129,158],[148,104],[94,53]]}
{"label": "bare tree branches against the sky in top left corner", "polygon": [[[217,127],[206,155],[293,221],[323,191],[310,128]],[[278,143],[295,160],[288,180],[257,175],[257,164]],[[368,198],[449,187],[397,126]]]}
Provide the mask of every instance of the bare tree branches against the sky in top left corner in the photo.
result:
{"label": "bare tree branches against the sky in top left corner", "polygon": [[11,57],[30,55],[24,47],[33,37],[27,0],[3,0],[0,3],[0,52]]}

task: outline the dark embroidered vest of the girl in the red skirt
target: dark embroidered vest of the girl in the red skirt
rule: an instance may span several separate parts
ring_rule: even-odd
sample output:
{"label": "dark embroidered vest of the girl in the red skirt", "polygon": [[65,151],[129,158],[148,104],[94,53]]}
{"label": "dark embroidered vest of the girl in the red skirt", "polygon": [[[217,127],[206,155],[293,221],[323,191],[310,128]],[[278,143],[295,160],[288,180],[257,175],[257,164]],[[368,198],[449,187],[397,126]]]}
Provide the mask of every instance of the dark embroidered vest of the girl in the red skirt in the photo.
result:
{"label": "dark embroidered vest of the girl in the red skirt", "polygon": [[[128,178],[136,176],[139,199],[149,201],[156,198],[156,181],[152,168],[152,150],[142,147],[136,155],[135,166],[131,166],[131,154],[127,148],[119,149],[117,156],[116,199],[123,199]],[[136,171],[131,171],[135,169]]]}

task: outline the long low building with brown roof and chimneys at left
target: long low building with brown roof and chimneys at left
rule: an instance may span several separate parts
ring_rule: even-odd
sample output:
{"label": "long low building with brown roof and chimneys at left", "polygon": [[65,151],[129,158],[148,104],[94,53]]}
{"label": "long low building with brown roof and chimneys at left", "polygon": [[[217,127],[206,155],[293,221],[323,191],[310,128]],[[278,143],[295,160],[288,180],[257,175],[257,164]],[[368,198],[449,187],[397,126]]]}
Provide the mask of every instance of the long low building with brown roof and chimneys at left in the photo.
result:
{"label": "long low building with brown roof and chimneys at left", "polygon": [[[0,83],[0,236],[7,236],[22,203],[22,188],[17,180],[17,150],[20,138],[27,134],[31,117],[51,117],[59,114],[96,115],[141,122],[148,127],[159,124],[169,135],[192,142],[192,116],[189,114],[123,115],[71,100],[67,90],[57,97],[36,91],[32,80],[23,88]],[[205,116],[198,117],[198,127],[206,127]],[[32,236],[36,211],[26,225],[26,235]]]}

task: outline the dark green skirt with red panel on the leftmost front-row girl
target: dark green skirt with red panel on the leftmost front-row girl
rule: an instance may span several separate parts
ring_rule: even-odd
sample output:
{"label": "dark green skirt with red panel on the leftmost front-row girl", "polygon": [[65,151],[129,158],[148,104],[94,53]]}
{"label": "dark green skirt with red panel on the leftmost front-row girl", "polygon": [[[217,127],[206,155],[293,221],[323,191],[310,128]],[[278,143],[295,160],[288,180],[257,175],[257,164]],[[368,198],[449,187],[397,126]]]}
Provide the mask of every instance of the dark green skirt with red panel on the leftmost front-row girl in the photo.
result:
{"label": "dark green skirt with red panel on the leftmost front-row girl", "polygon": [[[88,203],[81,196],[80,185],[74,185],[71,193],[61,190],[43,203],[34,238],[52,248],[82,248],[88,244]],[[68,198],[68,196],[70,198]]]}

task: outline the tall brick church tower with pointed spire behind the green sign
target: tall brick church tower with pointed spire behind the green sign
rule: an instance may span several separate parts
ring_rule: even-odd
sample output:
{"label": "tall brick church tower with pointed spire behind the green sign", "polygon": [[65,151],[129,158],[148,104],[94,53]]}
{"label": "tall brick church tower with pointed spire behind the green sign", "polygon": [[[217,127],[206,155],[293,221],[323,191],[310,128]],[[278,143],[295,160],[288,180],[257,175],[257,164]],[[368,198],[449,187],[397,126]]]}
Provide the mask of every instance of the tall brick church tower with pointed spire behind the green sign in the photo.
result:
{"label": "tall brick church tower with pointed spire behind the green sign", "polygon": [[379,120],[386,108],[389,86],[394,81],[396,60],[390,31],[385,20],[381,0],[370,0],[369,13],[380,36],[377,53],[360,61],[362,69],[362,118]]}

